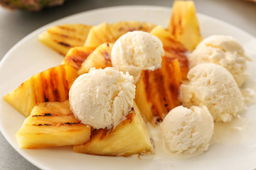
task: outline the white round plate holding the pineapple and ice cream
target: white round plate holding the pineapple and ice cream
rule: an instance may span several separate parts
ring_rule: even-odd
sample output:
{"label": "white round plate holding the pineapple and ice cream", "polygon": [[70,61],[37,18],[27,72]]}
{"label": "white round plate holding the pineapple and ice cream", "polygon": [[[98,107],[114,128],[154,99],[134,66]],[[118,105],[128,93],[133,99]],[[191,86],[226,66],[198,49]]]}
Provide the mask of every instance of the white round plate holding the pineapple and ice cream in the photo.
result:
{"label": "white round plate holding the pineapple and ice cream", "polygon": [[[101,8],[63,18],[40,28],[23,38],[6,54],[0,64],[0,96],[6,95],[31,77],[49,67],[60,64],[63,57],[57,52],[38,42],[38,34],[50,26],[63,23],[85,23],[96,25],[107,21],[146,21],[166,27],[171,16],[171,8],[155,6],[119,6]],[[208,35],[232,35],[244,47],[247,55],[256,57],[256,40],[244,31],[208,16],[198,14],[201,33]],[[256,77],[256,62],[250,62],[250,78]],[[244,117],[249,117],[256,124],[256,106],[252,105]],[[18,148],[15,132],[21,127],[23,115],[9,106],[2,98],[0,101],[1,132],[6,140],[29,162],[40,169],[252,169],[256,165],[256,126],[248,126],[252,135],[242,142],[232,144],[213,144],[208,152],[191,159],[170,159],[169,157],[99,157],[78,154],[72,147],[56,147],[49,149]]]}

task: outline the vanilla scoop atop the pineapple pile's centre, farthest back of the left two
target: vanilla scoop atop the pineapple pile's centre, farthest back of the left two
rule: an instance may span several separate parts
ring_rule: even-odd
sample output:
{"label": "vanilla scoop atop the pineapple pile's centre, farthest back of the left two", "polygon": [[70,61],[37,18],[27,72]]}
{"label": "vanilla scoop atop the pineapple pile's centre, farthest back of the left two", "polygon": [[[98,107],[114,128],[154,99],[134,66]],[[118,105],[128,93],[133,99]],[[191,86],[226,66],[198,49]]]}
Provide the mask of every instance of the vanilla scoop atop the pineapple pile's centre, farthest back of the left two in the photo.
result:
{"label": "vanilla scoop atop the pineapple pile's centre, farthest back of the left two", "polygon": [[164,56],[163,44],[159,38],[143,31],[132,31],[122,35],[112,47],[112,66],[122,72],[129,72],[134,81],[139,79],[142,69],[158,69]]}

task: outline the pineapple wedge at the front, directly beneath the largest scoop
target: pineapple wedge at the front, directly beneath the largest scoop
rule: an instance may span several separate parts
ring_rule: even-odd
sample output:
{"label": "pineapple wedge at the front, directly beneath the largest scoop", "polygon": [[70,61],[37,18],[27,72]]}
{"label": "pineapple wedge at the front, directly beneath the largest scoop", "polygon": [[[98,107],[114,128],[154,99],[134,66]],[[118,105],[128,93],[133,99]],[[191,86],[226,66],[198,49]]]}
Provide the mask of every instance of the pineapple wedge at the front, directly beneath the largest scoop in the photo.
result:
{"label": "pineapple wedge at the front, directly beneath the largest scoop", "polygon": [[114,129],[92,131],[91,139],[82,145],[74,145],[75,152],[104,156],[124,156],[154,152],[146,123],[137,106],[127,115],[127,119]]}

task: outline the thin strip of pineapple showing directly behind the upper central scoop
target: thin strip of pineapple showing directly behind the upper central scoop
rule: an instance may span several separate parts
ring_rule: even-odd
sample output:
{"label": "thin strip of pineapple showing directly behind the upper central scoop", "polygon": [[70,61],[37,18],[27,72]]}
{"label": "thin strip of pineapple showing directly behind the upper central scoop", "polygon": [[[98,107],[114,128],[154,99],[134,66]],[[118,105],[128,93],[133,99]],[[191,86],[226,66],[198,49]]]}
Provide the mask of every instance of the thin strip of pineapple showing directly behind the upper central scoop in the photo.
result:
{"label": "thin strip of pineapple showing directly behind the upper central scoop", "polygon": [[153,23],[144,23],[139,21],[120,21],[118,23],[110,24],[110,29],[116,39],[133,30],[142,30],[149,33],[154,27],[155,25]]}

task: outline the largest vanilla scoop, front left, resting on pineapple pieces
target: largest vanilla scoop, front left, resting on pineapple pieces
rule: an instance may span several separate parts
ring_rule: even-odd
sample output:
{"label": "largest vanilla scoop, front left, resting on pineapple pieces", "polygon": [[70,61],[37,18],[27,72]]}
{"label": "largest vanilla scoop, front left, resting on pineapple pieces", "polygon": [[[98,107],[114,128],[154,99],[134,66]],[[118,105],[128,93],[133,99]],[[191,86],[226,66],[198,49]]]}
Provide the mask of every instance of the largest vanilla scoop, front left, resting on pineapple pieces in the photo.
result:
{"label": "largest vanilla scoop, front left, resting on pineapple pieces", "polygon": [[133,77],[117,69],[90,69],[70,88],[70,108],[76,118],[93,128],[118,125],[133,107]]}

